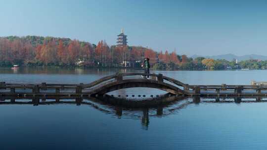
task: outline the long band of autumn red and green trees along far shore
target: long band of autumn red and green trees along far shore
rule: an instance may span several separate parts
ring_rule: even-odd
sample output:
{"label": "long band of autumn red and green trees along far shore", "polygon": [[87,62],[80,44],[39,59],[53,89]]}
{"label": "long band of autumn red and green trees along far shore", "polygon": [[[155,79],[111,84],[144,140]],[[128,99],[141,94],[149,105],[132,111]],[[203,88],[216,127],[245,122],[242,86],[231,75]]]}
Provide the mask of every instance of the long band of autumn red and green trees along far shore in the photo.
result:
{"label": "long band of autumn red and green trees along far shore", "polygon": [[0,67],[13,65],[24,67],[61,66],[88,68],[141,68],[144,58],[150,58],[151,69],[166,70],[225,70],[266,69],[267,61],[246,60],[238,63],[198,57],[189,58],[169,53],[156,52],[142,46],[109,46],[101,40],[97,44],[70,38],[54,37],[1,37]]}

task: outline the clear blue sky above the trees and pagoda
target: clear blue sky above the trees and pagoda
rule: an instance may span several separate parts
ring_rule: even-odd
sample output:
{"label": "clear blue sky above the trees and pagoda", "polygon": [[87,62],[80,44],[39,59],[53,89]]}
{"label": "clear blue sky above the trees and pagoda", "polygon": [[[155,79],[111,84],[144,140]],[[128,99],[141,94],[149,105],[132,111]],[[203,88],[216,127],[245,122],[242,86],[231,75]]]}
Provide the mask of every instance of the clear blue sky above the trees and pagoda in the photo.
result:
{"label": "clear blue sky above the trees and pagoda", "polygon": [[0,37],[53,36],[178,54],[267,55],[267,0],[0,0]]}

